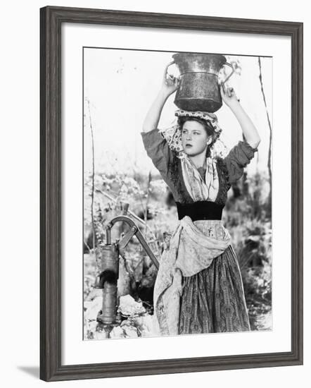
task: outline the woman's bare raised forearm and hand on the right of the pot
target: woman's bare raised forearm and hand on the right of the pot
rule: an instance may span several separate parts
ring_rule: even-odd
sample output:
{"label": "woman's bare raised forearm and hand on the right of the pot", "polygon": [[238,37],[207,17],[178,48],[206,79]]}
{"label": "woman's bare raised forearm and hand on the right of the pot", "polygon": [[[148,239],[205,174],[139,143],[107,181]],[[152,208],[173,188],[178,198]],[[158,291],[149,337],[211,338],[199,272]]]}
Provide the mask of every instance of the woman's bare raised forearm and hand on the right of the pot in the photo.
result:
{"label": "woman's bare raised forearm and hand on the right of the pot", "polygon": [[260,136],[253,121],[250,120],[246,111],[241,107],[239,100],[232,87],[220,86],[220,93],[225,104],[231,109],[242,128],[246,142],[253,148],[257,148],[260,143]]}

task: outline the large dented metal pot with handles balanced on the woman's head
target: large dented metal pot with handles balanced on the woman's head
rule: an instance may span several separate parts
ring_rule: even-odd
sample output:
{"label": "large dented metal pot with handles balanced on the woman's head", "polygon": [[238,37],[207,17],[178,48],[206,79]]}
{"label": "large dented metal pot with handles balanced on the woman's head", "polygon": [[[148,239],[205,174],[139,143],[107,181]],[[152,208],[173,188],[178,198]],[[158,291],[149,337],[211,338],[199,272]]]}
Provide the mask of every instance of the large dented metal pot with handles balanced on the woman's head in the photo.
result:
{"label": "large dented metal pot with handles balanced on the woman's head", "polygon": [[179,85],[174,104],[186,111],[215,112],[222,107],[219,73],[222,66],[230,66],[232,71],[222,82],[234,73],[234,68],[221,54],[178,53],[172,56],[179,73]]}

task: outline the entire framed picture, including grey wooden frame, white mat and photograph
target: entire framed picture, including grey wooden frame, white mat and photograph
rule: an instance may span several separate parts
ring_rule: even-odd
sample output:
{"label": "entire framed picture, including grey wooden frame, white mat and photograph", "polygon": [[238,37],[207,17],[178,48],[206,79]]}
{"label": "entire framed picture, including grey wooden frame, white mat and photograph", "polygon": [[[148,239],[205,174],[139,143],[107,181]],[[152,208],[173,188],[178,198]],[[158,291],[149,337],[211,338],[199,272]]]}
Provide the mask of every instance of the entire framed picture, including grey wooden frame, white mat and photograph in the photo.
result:
{"label": "entire framed picture, including grey wooden frame, white mat and photograph", "polygon": [[303,23],[41,8],[40,377],[303,363]]}

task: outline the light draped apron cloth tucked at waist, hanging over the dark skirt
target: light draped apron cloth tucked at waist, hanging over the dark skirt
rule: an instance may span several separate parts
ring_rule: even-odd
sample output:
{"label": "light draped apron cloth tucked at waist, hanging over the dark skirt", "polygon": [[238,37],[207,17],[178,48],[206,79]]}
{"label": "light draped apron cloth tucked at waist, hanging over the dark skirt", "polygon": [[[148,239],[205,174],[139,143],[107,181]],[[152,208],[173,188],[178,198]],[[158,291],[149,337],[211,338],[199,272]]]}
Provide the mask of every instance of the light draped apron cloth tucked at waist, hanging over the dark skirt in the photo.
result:
{"label": "light draped apron cloth tucked at waist, hanging over the dark skirt", "polygon": [[209,225],[210,234],[203,234],[185,216],[163,252],[153,291],[153,320],[158,334],[179,334],[183,277],[208,268],[229,247],[231,238],[220,220],[208,220],[205,225]]}

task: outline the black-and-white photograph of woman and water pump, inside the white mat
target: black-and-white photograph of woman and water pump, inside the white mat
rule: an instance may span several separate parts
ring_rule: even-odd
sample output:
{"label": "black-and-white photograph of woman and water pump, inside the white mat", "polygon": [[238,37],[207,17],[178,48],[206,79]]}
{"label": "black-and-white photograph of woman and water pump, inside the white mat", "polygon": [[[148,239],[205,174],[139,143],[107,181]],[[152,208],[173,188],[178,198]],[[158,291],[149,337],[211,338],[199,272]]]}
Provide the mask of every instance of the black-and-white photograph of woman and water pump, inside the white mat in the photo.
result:
{"label": "black-and-white photograph of woman and water pump, inside the white mat", "polygon": [[83,339],[270,331],[272,56],[83,48]]}

